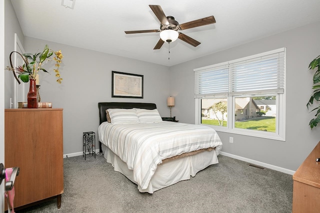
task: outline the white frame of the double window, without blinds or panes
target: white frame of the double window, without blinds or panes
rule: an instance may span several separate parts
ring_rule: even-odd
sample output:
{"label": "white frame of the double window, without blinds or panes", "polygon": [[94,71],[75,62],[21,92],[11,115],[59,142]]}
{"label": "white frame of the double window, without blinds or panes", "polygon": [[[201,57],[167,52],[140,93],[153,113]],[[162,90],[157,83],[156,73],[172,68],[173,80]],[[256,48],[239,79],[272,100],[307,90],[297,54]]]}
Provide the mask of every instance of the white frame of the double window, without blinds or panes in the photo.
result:
{"label": "white frame of the double window, without blinds or panes", "polygon": [[[260,57],[263,55],[273,54],[276,52],[284,51],[284,85],[283,85],[283,93],[270,93],[267,94],[247,94],[247,95],[232,95],[227,94],[223,96],[223,98],[227,98],[227,112],[231,112],[232,116],[227,116],[227,127],[223,126],[215,126],[215,125],[205,125],[201,124],[201,98],[217,98],[214,96],[204,96],[204,97],[198,97],[195,96],[195,124],[198,125],[205,125],[209,126],[212,129],[219,131],[219,132],[226,132],[226,133],[233,133],[233,134],[239,134],[239,135],[246,135],[246,136],[252,136],[252,137],[259,137],[259,138],[266,138],[266,139],[272,139],[272,140],[278,140],[278,141],[285,141],[285,48],[275,49],[268,52],[248,56],[245,58],[240,58],[232,61],[228,61],[227,63],[232,63],[234,61],[240,61],[240,60],[247,60],[254,57]],[[224,62],[226,63],[226,62]],[[224,64],[223,63],[223,64]],[[221,64],[221,63],[220,63]],[[194,71],[197,70],[203,70],[203,69],[210,69],[211,67],[214,67],[216,65],[210,65],[206,67],[201,67],[194,69]],[[229,83],[230,84],[230,83]],[[265,131],[257,131],[257,130],[248,130],[248,129],[240,129],[240,128],[234,128],[234,98],[236,97],[254,97],[254,96],[276,96],[276,130],[274,132],[265,132]]]}

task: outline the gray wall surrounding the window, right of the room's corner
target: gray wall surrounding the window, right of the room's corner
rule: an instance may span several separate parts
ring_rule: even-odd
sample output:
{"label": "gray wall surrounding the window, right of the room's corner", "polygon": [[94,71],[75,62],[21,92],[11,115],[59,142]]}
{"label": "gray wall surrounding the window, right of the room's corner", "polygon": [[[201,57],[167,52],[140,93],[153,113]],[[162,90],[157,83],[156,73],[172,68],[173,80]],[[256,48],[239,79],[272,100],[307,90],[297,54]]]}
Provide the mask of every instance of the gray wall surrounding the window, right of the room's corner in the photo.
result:
{"label": "gray wall surrounding the window, right of the room's corner", "polygon": [[313,75],[308,65],[320,54],[319,35],[317,22],[170,67],[171,93],[176,96],[172,114],[180,122],[194,123],[194,68],[286,47],[286,141],[218,134],[223,152],[295,171],[320,140],[320,127],[311,131],[308,126],[314,113],[306,108]]}

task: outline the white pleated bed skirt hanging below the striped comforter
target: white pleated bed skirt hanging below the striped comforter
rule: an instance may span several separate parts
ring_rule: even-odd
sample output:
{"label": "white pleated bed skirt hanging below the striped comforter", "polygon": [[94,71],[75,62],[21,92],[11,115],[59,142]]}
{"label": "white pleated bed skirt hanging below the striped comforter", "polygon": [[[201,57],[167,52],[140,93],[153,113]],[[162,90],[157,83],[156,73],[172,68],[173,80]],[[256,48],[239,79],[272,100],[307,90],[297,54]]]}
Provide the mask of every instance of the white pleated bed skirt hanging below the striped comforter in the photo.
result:
{"label": "white pleated bed skirt hanging below the striped comforter", "polygon": [[[114,171],[120,172],[137,185],[133,180],[133,171],[128,169],[126,163],[104,144],[102,144],[102,152],[106,162],[112,165]],[[173,159],[157,165],[146,189],[141,189],[139,185],[137,185],[137,188],[141,193],[147,192],[152,194],[157,190],[173,185],[179,181],[189,180],[190,176],[194,177],[197,172],[205,169],[209,165],[217,163],[218,159],[214,149],[183,158]]]}

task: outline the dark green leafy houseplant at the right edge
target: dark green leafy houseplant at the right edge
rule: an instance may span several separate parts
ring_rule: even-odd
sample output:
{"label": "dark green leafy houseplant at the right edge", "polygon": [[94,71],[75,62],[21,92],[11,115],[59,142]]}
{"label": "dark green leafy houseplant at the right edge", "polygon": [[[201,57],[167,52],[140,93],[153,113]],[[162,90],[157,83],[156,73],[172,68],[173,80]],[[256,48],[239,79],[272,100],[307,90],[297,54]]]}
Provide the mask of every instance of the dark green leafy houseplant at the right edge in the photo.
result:
{"label": "dark green leafy houseplant at the right edge", "polygon": [[[309,109],[309,106],[311,106],[313,104],[313,101],[319,101],[320,99],[320,55],[317,56],[316,58],[314,58],[311,63],[309,64],[309,70],[313,70],[315,69],[315,73],[313,75],[313,92],[312,95],[308,101],[308,103],[306,104],[306,107]],[[314,109],[311,110],[315,111],[316,110],[316,114],[314,115],[315,118],[312,118],[309,122],[309,126],[311,127],[311,129],[313,127],[315,127],[319,122],[320,122],[320,104],[318,104],[318,106]]]}

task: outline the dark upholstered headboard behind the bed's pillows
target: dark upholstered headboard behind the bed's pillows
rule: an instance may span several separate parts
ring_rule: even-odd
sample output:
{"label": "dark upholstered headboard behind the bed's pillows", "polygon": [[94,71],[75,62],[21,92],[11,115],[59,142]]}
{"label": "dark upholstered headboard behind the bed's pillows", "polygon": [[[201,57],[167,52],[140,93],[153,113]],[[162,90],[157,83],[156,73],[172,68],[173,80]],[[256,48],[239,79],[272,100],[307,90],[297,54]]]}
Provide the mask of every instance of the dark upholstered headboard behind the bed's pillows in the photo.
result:
{"label": "dark upholstered headboard behind the bed's pillows", "polygon": [[[100,102],[99,108],[99,124],[106,121],[106,109],[156,109],[156,105],[152,103],[130,103],[130,102]],[[99,142],[99,152],[102,153],[101,142]]]}

